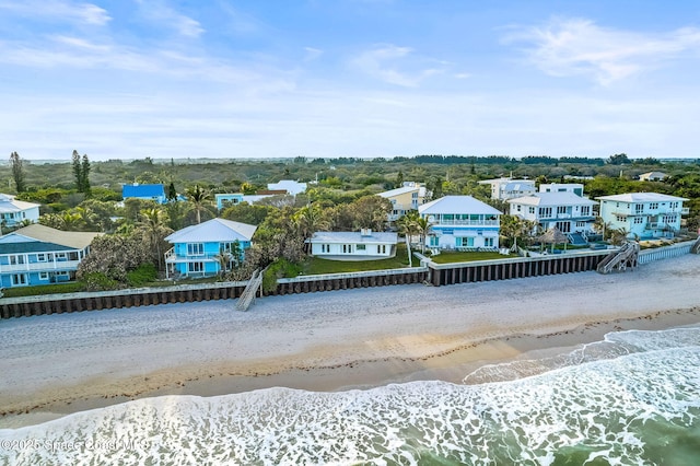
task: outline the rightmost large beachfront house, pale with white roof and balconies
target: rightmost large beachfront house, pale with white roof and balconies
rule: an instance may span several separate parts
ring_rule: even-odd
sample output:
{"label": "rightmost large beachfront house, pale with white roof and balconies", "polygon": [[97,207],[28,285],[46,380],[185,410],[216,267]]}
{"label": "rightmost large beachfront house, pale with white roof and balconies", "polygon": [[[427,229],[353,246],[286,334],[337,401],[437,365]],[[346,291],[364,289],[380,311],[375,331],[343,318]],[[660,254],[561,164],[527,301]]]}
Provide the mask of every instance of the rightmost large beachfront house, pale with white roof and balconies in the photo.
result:
{"label": "rightmost large beachfront house, pale with white roof and balconies", "polygon": [[600,217],[606,225],[623,229],[629,238],[674,237],[680,230],[681,217],[688,214],[682,197],[658,193],[629,193],[602,196]]}

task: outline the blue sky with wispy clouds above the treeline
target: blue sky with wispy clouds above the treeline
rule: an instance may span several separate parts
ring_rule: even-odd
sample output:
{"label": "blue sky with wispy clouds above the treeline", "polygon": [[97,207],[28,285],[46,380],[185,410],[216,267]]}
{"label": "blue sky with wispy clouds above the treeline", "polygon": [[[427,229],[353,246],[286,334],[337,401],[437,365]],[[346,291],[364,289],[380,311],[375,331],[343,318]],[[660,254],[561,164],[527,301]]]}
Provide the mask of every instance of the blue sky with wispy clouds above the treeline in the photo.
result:
{"label": "blue sky with wispy clouds above the treeline", "polygon": [[9,158],[700,156],[700,3],[0,0]]}

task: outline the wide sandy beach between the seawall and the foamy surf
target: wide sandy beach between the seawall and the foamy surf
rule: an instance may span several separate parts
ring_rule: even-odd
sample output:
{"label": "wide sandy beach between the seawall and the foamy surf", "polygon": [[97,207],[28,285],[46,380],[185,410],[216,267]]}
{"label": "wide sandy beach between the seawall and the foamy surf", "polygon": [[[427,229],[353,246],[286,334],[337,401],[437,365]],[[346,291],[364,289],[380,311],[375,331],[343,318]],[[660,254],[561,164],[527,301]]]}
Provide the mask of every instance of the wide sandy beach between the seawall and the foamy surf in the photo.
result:
{"label": "wide sandy beach between the seawall and the foamy surf", "polygon": [[422,284],[0,322],[0,428],[165,394],[460,383],[487,363],[700,323],[700,257],[609,276]]}

